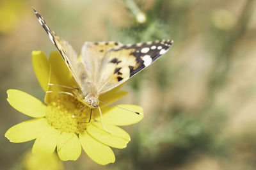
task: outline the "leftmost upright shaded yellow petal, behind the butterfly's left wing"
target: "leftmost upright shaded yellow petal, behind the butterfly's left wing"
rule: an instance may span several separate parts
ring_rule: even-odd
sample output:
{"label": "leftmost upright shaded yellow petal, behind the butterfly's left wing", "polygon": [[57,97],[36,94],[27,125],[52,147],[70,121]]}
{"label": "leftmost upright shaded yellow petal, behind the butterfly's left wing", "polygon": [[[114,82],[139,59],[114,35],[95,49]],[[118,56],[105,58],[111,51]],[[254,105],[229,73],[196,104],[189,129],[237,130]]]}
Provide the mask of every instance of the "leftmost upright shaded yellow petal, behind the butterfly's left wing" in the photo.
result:
{"label": "leftmost upright shaded yellow petal, behind the butterfly's left wing", "polygon": [[48,86],[47,83],[49,81],[50,62],[47,59],[47,56],[45,56],[44,52],[40,50],[33,50],[32,63],[40,86],[42,89],[44,89],[44,91],[46,91]]}

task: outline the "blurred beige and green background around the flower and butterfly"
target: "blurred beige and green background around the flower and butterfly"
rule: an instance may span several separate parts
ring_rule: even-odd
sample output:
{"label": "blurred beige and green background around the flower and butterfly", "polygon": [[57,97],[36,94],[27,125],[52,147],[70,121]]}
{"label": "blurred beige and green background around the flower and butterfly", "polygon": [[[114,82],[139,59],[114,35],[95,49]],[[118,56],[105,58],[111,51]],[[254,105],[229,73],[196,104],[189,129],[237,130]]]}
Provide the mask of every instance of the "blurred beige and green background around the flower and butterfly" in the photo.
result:
{"label": "blurred beige and green background around the flower and butterfly", "polygon": [[[129,95],[118,103],[141,105],[145,118],[124,127],[131,142],[113,149],[115,164],[100,166],[84,152],[77,161],[35,158],[33,141],[4,137],[30,119],[8,104],[6,90],[43,101],[31,51],[56,50],[31,6],[77,53],[85,41],[174,40],[124,86]],[[0,169],[255,169],[255,38],[254,0],[1,0]]]}

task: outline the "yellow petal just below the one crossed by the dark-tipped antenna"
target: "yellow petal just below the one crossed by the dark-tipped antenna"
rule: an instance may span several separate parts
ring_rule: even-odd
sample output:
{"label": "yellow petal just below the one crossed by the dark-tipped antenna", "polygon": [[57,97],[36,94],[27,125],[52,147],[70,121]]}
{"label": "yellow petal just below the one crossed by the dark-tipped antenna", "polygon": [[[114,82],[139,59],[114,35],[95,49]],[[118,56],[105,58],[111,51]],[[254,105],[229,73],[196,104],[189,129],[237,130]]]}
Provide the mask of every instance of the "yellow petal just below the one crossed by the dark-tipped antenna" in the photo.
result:
{"label": "yellow petal just below the one crossed by the dark-tipped antenna", "polygon": [[87,127],[87,132],[101,143],[107,144],[113,148],[125,148],[127,143],[131,140],[131,137],[122,128],[115,125],[104,124],[106,130],[102,128],[102,123],[94,122],[90,123]]}

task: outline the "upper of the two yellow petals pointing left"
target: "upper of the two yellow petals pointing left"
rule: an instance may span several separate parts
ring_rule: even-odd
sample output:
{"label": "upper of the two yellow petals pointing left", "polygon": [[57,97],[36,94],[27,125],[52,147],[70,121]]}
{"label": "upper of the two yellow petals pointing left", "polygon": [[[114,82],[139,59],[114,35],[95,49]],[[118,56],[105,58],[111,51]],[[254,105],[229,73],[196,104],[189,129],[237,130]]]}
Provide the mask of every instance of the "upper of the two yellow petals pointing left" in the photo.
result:
{"label": "upper of the two yellow petals pointing left", "polygon": [[7,101],[17,111],[33,118],[42,118],[45,116],[46,106],[37,98],[18,89],[8,89],[7,94]]}

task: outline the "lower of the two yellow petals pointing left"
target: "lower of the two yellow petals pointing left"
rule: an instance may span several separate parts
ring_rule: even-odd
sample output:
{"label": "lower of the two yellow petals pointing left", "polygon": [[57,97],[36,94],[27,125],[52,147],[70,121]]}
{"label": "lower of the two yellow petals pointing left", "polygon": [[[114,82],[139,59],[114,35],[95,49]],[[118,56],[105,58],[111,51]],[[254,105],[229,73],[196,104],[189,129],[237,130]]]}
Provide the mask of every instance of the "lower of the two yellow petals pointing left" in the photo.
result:
{"label": "lower of the two yellow petals pointing left", "polygon": [[35,118],[9,128],[5,137],[12,143],[24,143],[44,134],[47,127],[49,124],[45,118]]}

